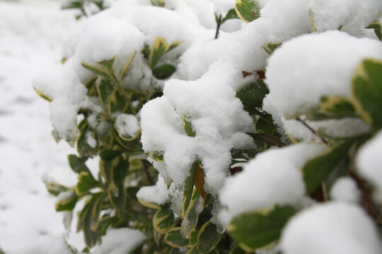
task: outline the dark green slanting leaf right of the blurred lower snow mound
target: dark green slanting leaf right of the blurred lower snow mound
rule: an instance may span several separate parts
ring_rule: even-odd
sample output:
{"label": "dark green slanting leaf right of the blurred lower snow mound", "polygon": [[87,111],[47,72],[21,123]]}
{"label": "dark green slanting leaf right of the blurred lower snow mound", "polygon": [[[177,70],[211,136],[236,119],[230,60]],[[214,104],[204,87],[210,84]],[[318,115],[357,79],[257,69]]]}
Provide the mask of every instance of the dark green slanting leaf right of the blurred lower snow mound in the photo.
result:
{"label": "dark green slanting leaf right of the blurred lower snow mound", "polygon": [[311,194],[321,186],[322,181],[335,168],[340,159],[347,154],[354,144],[354,138],[341,140],[328,147],[316,157],[308,160],[302,167],[303,180],[305,181],[306,193]]}

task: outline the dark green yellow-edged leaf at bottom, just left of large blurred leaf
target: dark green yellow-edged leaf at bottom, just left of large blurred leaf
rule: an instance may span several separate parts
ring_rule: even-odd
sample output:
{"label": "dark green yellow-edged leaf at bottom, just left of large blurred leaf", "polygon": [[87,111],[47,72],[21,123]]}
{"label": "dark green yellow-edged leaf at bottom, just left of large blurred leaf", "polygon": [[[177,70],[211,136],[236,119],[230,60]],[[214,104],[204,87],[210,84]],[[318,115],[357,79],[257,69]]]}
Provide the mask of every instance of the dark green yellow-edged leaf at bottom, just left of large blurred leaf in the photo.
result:
{"label": "dark green yellow-edged leaf at bottom, just left of large blurred leaf", "polygon": [[219,243],[221,234],[216,231],[216,226],[212,222],[207,222],[197,234],[197,248],[199,253],[209,253]]}

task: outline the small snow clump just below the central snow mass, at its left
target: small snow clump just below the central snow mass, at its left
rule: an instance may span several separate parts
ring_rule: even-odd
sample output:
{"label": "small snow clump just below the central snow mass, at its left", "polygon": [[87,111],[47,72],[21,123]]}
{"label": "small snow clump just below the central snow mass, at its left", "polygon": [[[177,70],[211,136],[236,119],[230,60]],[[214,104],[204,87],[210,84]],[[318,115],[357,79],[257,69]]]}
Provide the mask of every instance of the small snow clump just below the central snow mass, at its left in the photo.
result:
{"label": "small snow clump just below the central snow mass, at its left", "polygon": [[170,201],[170,191],[161,176],[158,176],[158,181],[154,186],[144,186],[137,192],[137,198],[144,202],[152,202],[158,205],[163,205]]}

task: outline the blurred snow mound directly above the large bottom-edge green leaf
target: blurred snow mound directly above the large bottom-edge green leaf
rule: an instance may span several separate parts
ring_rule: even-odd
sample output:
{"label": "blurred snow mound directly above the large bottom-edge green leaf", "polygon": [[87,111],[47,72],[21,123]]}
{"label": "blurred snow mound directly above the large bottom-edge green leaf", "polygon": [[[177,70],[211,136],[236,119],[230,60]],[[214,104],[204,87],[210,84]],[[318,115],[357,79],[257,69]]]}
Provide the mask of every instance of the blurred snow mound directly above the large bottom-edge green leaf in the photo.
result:
{"label": "blurred snow mound directly above the large bottom-edge green leaf", "polygon": [[257,155],[241,173],[229,177],[221,189],[220,201],[228,210],[222,220],[229,222],[243,212],[267,210],[274,205],[299,207],[305,202],[301,167],[321,151],[320,145],[300,143]]}

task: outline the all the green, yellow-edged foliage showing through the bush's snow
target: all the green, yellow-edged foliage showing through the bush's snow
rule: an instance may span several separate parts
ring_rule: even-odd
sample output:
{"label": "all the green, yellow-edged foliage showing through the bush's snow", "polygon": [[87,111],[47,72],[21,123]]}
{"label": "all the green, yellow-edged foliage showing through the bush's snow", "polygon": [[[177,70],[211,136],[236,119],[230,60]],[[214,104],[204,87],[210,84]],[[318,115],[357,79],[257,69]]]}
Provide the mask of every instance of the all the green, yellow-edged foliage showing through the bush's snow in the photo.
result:
{"label": "all the green, yellow-edged foliage showing through the bush's snow", "polygon": [[[156,6],[164,5],[163,1],[151,2]],[[235,7],[224,18],[216,16],[216,37],[219,25],[228,19],[241,18],[251,22],[260,16],[257,1],[237,0]],[[74,4],[72,8],[81,7]],[[368,28],[380,33],[378,24],[373,23]],[[163,56],[180,44],[168,44],[165,38],[158,37],[151,47],[146,45],[142,53],[155,78],[168,79],[176,71],[176,67]],[[262,49],[272,54],[280,44],[270,42]],[[99,99],[103,110],[98,112],[96,124],[89,119],[94,112],[89,109],[79,111],[82,120],[77,126],[78,135],[74,140],[79,156],[68,157],[71,170],[78,175],[76,186],[63,186],[51,181],[46,183],[47,190],[58,198],[57,212],[73,212],[79,200],[85,200],[85,205],[79,211],[77,230],[83,231],[88,248],[100,243],[100,237],[106,234],[108,228],[129,226],[148,236],[132,253],[255,253],[272,249],[277,245],[284,226],[299,210],[289,205],[274,205],[265,210],[240,214],[231,220],[226,231],[219,229],[211,222],[218,197],[204,190],[204,169],[198,158],[195,158],[183,184],[180,214],[174,213],[170,202],[158,205],[137,198],[139,188],[153,185],[157,178],[157,172],[147,161],[146,155],[156,162],[163,162],[164,152],[151,151],[145,155],[139,141],[140,132],[134,136],[122,135],[123,132],[115,124],[118,114],[137,115],[144,103],[161,95],[161,91],[143,91],[122,85],[129,66],[134,63],[134,56],[135,53],[120,73],[115,73],[113,69],[117,56],[95,65],[82,63],[84,68],[94,74],[84,84],[88,96]],[[265,82],[266,70],[243,71],[243,78],[248,76],[252,76],[252,81],[237,90],[236,97],[241,100],[243,109],[252,116],[256,131],[248,135],[253,138],[257,148],[231,151],[231,166],[227,172],[232,175],[243,169],[241,164],[260,152],[299,142],[287,138],[272,116],[262,109],[262,101],[269,93]],[[320,121],[345,117],[362,119],[371,127],[368,133],[348,138],[331,137],[323,131],[310,128],[322,140],[325,150],[308,160],[301,168],[301,173],[306,195],[318,202],[328,200],[327,193],[333,179],[356,174],[354,155],[359,146],[382,128],[382,62],[375,59],[362,61],[349,85],[352,87],[351,98],[327,95],[321,99],[319,107],[303,116],[296,116],[307,128],[310,127],[303,119]],[[43,99],[52,101],[42,92],[36,92]],[[133,104],[133,101],[138,103]],[[181,120],[185,135],[194,138],[197,133],[190,117],[183,115]],[[89,140],[95,140],[96,145]],[[94,174],[86,165],[89,158],[96,156],[100,157],[98,174]],[[367,209],[365,207],[366,212],[369,212]]]}

